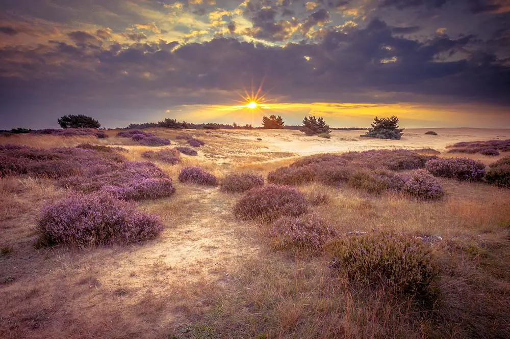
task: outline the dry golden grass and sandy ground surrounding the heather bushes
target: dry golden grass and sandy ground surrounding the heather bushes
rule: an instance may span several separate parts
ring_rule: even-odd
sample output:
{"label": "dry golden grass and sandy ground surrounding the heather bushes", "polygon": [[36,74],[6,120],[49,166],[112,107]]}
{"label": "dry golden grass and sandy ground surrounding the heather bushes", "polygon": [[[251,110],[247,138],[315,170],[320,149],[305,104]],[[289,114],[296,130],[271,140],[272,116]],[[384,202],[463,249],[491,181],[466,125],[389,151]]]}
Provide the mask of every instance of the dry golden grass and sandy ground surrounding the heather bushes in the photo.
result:
{"label": "dry golden grass and sandy ground surrounding the heather bushes", "polygon": [[[150,131],[174,145],[185,143],[175,140],[180,131]],[[107,133],[108,139],[1,137],[0,144],[125,143],[115,131]],[[197,157],[181,155],[177,165],[157,162],[176,193],[140,204],[166,227],[143,245],[37,249],[33,225],[40,207],[67,192],[42,179],[0,179],[0,248],[6,248],[0,255],[0,337],[510,337],[510,190],[441,179],[447,196],[419,202],[347,185],[298,187],[310,209],[340,234],[441,236],[432,246],[442,267],[441,296],[425,312],[409,298],[352,286],[327,267],[330,258],[275,252],[267,225],[235,219],[240,194],[179,183],[183,166],[200,165],[221,178],[235,171],[266,175],[296,160],[259,131],[192,134],[206,142]],[[263,141],[254,141],[259,136]],[[444,146],[452,143],[441,137]],[[145,160],[142,152],[160,149],[126,147],[130,160]]]}

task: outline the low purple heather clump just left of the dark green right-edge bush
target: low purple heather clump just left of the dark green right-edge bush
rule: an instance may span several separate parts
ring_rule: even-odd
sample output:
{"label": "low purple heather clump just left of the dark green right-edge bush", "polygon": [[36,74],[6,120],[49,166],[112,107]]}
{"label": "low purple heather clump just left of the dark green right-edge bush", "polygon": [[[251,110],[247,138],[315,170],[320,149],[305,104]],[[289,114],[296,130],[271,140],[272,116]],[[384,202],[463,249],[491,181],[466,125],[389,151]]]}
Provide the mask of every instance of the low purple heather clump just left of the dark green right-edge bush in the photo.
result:
{"label": "low purple heather clump just left of the dark green right-edge bush", "polygon": [[485,175],[485,165],[468,158],[438,158],[427,161],[425,168],[436,177],[478,181]]}

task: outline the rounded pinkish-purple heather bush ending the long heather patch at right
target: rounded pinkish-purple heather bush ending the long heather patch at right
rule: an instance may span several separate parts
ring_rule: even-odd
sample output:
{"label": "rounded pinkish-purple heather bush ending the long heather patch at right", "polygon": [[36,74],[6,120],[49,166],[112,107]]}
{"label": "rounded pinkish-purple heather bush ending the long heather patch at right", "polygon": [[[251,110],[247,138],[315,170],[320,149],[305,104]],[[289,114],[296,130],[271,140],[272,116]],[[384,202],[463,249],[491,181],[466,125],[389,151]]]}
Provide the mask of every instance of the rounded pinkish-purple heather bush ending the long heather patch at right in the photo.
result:
{"label": "rounded pinkish-purple heather bush ending the long heather patch at right", "polygon": [[441,199],[445,194],[441,183],[425,170],[413,171],[402,190],[424,200]]}

